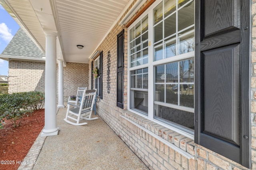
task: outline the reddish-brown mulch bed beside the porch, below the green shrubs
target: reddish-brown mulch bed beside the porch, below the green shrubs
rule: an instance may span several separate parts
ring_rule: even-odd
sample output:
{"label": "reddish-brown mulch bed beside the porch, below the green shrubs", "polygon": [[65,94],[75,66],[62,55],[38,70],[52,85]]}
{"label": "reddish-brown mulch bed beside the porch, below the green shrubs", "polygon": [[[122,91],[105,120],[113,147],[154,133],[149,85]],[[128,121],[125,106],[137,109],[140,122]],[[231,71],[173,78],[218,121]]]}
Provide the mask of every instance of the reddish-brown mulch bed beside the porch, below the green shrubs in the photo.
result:
{"label": "reddish-brown mulch bed beside the porch, below the green shrubs", "polygon": [[30,117],[25,115],[16,128],[6,121],[4,129],[0,129],[0,170],[17,170],[43,127],[44,109],[34,111]]}

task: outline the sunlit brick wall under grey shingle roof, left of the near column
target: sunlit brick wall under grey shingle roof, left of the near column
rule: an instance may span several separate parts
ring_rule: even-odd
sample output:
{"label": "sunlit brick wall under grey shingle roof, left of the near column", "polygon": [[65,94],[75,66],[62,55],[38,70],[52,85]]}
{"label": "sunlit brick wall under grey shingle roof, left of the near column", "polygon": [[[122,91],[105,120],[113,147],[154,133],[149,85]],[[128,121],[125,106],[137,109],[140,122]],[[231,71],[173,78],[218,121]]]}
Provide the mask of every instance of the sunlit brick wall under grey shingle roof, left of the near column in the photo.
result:
{"label": "sunlit brick wall under grey shingle roof, left of the near column", "polygon": [[9,61],[8,93],[44,92],[45,63]]}

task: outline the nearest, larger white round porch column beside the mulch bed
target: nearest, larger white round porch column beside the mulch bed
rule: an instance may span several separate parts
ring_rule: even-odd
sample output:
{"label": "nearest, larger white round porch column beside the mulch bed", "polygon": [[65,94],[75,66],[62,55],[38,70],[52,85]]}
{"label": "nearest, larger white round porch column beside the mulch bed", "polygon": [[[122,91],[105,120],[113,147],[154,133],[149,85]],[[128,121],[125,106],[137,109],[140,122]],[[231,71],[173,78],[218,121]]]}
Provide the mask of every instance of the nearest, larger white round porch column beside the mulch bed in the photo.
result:
{"label": "nearest, larger white round porch column beside the mulch bed", "polygon": [[46,59],[45,59],[45,109],[43,136],[58,135],[56,127],[56,31],[44,30],[46,36]]}

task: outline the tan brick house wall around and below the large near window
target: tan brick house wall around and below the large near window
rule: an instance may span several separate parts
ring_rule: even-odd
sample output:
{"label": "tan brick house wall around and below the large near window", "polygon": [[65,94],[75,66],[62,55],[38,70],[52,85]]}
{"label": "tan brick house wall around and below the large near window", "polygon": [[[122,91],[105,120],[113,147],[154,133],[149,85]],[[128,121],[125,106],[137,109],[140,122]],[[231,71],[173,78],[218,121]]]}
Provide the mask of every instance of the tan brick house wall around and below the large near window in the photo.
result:
{"label": "tan brick house wall around and below the large near window", "polygon": [[[148,3],[147,1],[144,6]],[[256,0],[252,1],[252,170],[256,170]],[[142,9],[142,8],[140,8]],[[130,19],[132,20],[132,18]],[[129,21],[128,21],[129,22]],[[117,35],[125,29],[124,109],[116,107]],[[97,50],[103,51],[103,99],[97,113],[150,168],[177,170],[246,170],[240,164],[194,143],[193,139],[127,111],[127,29],[116,24]],[[110,94],[107,93],[107,53],[110,51]],[[91,60],[92,61],[92,60]],[[90,62],[91,62],[90,61]],[[90,68],[89,64],[89,68]],[[91,68],[89,72],[91,71]],[[90,76],[90,75],[89,75]],[[89,78],[90,81],[90,78]],[[90,83],[90,82],[89,82]],[[176,149],[173,149],[176,148]],[[178,148],[178,149],[177,149]],[[177,151],[178,150],[178,151]],[[181,151],[180,151],[181,150]],[[188,159],[184,156],[192,156]]]}

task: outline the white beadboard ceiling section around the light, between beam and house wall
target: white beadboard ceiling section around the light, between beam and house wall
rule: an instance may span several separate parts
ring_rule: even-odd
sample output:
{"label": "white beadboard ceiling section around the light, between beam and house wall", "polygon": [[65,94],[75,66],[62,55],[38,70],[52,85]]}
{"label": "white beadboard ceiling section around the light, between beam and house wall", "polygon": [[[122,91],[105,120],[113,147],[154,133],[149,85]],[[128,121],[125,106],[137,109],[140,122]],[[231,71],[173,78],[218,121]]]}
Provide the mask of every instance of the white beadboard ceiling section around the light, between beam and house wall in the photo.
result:
{"label": "white beadboard ceiling section around the light, between beam and house wall", "polygon": [[[129,0],[52,0],[67,62],[88,63]],[[83,45],[77,49],[76,45]]]}

